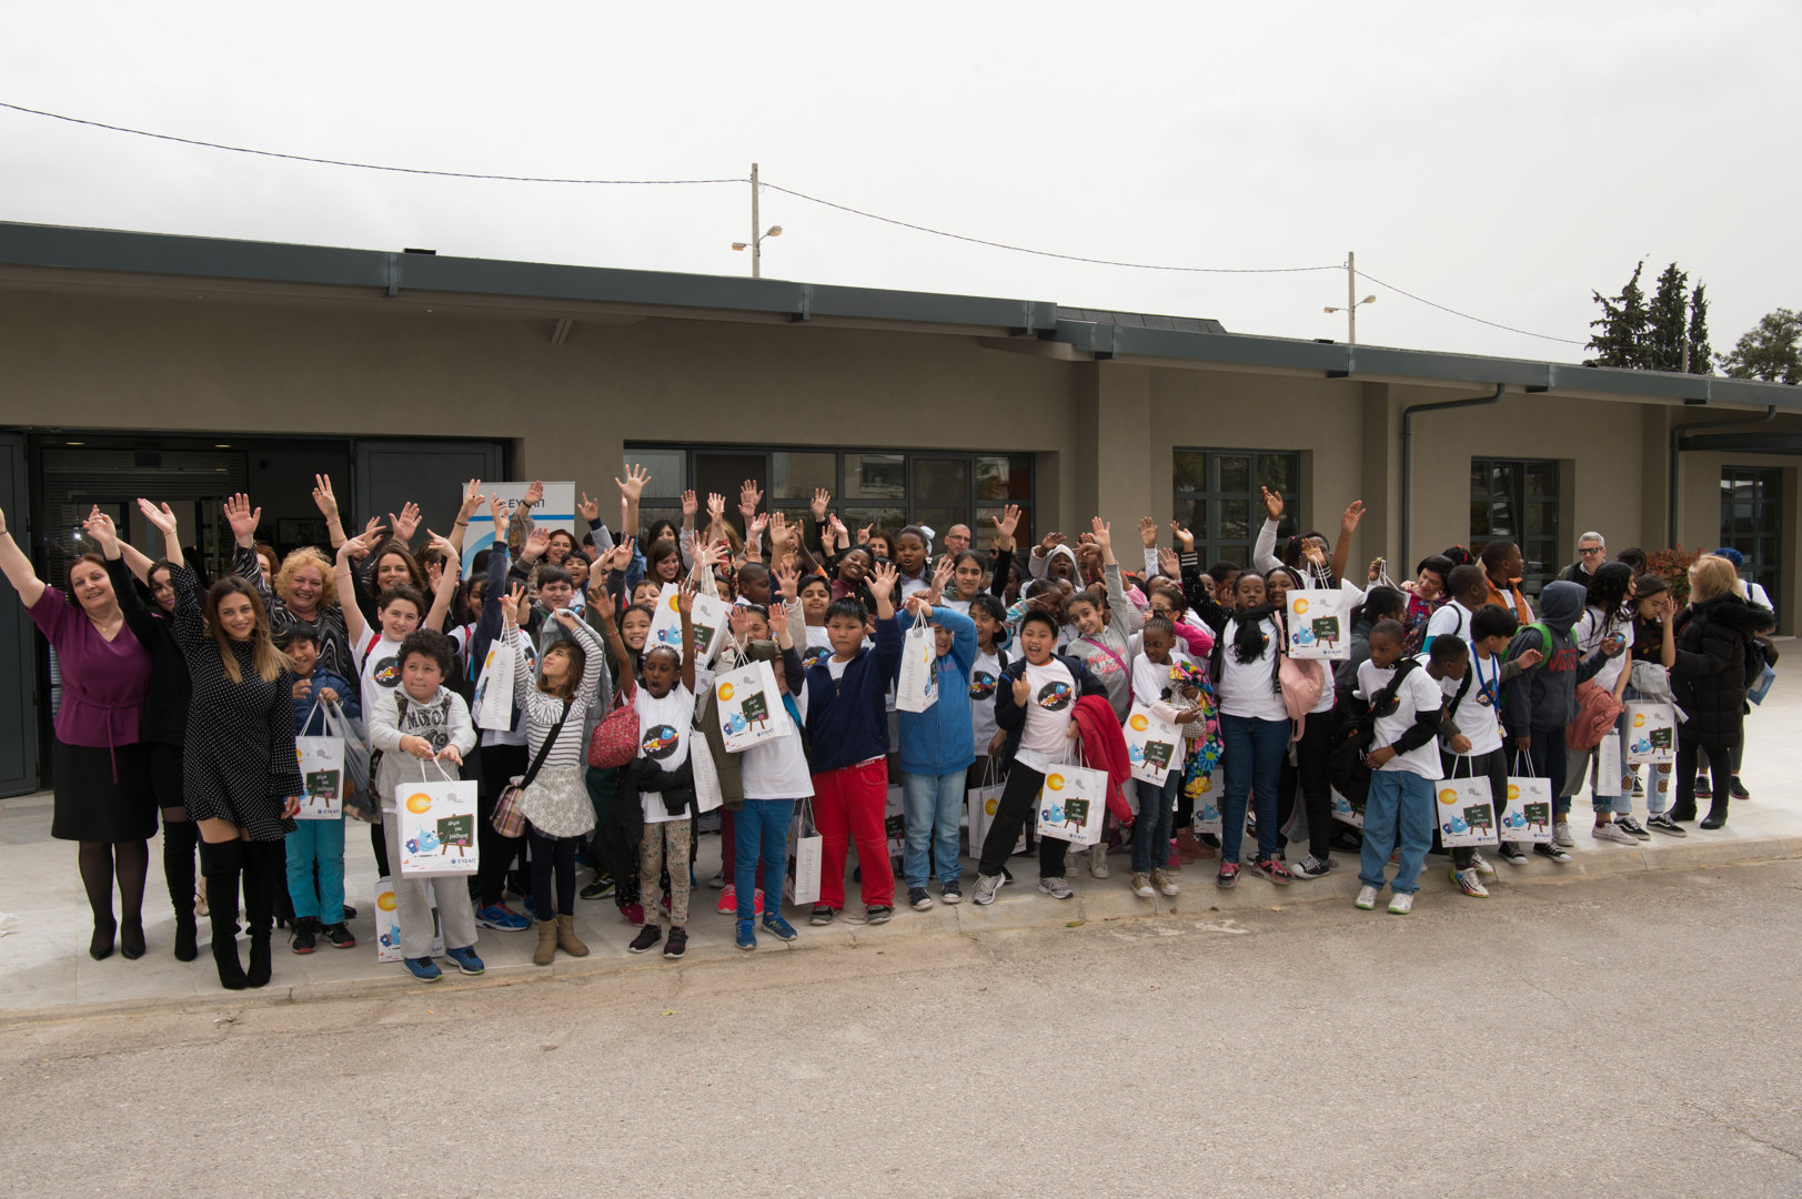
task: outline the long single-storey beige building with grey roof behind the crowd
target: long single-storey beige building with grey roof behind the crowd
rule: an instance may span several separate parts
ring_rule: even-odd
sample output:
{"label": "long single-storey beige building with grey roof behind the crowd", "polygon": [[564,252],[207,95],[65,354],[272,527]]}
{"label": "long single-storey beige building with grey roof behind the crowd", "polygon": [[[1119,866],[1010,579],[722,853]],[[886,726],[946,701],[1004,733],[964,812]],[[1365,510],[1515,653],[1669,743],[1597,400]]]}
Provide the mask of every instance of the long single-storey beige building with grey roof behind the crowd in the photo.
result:
{"label": "long single-storey beige building with grey roof behind the crowd", "polygon": [[[99,503],[155,550],[132,501],[168,499],[216,568],[220,498],[263,539],[323,541],[458,483],[573,480],[616,517],[623,462],[645,519],[741,480],[800,512],[941,532],[1018,503],[1022,541],[1094,514],[1123,561],[1137,517],[1179,517],[1247,561],[1260,483],[1299,530],[1370,512],[1353,570],[1397,579],[1449,545],[1519,541],[1534,582],[1595,528],[1609,550],[1746,555],[1782,631],[1802,617],[1802,389],[1699,375],[1251,337],[1211,319],[1051,299],[822,287],[425,251],[0,224],[0,505],[45,579]],[[1288,532],[1288,530],[1285,530]],[[1166,534],[1168,541],[1168,534]],[[47,761],[54,680],[0,599],[0,793]]]}

